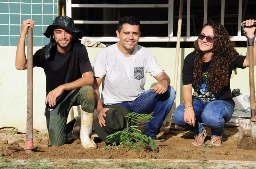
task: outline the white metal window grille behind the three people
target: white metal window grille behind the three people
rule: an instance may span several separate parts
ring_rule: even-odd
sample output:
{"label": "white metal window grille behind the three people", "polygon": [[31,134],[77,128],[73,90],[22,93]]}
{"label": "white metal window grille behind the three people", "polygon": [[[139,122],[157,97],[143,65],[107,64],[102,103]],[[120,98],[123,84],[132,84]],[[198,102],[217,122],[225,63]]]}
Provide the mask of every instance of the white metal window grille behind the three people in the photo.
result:
{"label": "white metal window grille behind the three people", "polygon": [[[247,1],[247,0],[246,0]],[[242,0],[239,0],[238,25],[242,21]],[[168,36],[164,37],[140,37],[141,42],[177,42],[177,37],[173,37],[174,23],[174,0],[168,0],[168,4],[72,4],[72,0],[66,0],[66,14],[72,17],[72,7],[168,7],[168,20],[162,21],[141,21],[141,24],[168,24]],[[197,36],[190,37],[190,18],[191,18],[191,0],[187,0],[187,34],[186,37],[181,37],[180,42],[193,42]],[[208,0],[204,0],[204,24],[207,22]],[[225,16],[225,0],[221,2],[221,24],[224,24]],[[75,20],[75,24],[117,24],[116,20]],[[101,42],[118,42],[116,37],[83,37],[90,40]],[[241,27],[238,26],[238,36],[231,36],[231,41],[246,41],[246,37],[241,36]]]}

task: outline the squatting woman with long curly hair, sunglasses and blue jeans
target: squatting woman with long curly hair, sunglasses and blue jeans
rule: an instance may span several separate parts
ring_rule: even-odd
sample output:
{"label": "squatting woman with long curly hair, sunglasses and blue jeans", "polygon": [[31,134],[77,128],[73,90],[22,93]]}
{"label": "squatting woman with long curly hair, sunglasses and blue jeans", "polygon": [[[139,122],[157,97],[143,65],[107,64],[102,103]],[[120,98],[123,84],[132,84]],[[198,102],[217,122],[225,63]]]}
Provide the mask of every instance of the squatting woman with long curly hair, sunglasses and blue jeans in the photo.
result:
{"label": "squatting woman with long curly hair, sunglasses and blue jeans", "polygon": [[[246,26],[251,26],[256,20],[244,22]],[[255,29],[249,27],[244,28],[244,31],[252,38]],[[204,145],[206,130],[201,123],[211,128],[211,143],[221,145],[223,125],[231,119],[235,106],[230,90],[230,76],[233,70],[236,74],[236,67],[248,66],[248,52],[246,56],[239,56],[225,27],[218,22],[207,21],[194,42],[194,51],[184,59],[184,103],[176,108],[172,116],[175,124],[195,134],[195,140],[192,142],[194,146]]]}

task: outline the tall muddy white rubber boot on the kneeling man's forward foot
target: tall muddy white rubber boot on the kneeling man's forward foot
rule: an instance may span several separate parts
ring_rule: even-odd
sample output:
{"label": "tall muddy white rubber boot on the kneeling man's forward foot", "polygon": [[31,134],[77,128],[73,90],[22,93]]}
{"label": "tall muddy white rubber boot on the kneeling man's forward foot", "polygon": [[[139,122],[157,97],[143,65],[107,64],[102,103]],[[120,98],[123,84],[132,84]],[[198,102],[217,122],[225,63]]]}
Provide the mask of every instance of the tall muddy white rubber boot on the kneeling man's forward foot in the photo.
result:
{"label": "tall muddy white rubber boot on the kneeling man's forward foot", "polygon": [[92,140],[93,113],[87,113],[81,109],[80,139],[84,149],[97,149],[97,144]]}

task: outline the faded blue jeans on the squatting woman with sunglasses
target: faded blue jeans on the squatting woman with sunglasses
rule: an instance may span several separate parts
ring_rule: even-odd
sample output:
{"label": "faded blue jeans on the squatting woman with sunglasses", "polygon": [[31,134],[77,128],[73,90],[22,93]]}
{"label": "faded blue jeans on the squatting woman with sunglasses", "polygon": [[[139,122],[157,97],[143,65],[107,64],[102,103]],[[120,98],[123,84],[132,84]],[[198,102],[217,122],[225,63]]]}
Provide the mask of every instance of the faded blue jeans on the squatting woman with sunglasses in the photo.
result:
{"label": "faded blue jeans on the squatting woman with sunglasses", "polygon": [[225,122],[231,119],[234,108],[226,101],[216,100],[211,102],[202,102],[193,98],[193,109],[195,112],[195,127],[184,122],[184,103],[180,104],[172,115],[175,124],[188,129],[194,134],[203,132],[204,123],[211,128],[212,136],[221,136]]}

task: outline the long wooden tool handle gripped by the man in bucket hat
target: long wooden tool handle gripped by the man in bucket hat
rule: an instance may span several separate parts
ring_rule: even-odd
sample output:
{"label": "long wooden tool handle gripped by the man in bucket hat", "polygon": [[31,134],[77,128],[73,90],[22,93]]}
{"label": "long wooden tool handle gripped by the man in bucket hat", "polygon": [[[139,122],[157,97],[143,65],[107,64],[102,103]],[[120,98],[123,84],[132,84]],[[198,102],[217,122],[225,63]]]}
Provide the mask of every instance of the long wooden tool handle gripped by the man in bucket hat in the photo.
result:
{"label": "long wooden tool handle gripped by the man in bucket hat", "polygon": [[[33,146],[33,31],[28,27],[27,34],[27,132],[26,144]],[[32,142],[32,146],[31,146]],[[29,149],[29,148],[27,148]]]}

